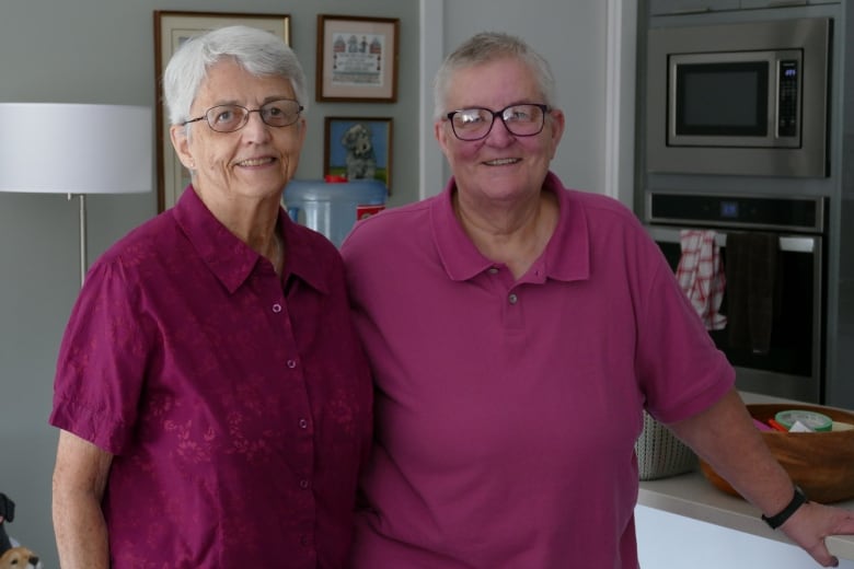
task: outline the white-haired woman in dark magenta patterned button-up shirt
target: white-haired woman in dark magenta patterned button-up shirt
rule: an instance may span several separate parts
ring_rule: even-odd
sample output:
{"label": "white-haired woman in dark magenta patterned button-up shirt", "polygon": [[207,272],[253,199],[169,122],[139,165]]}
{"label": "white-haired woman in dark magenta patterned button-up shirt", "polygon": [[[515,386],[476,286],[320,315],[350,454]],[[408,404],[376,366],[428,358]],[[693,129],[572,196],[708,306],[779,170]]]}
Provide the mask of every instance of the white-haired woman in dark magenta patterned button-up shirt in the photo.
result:
{"label": "white-haired woman in dark magenta patterned button-up shirt", "polygon": [[337,249],[281,207],[305,78],[231,26],[184,44],[163,86],[192,183],[93,265],[66,329],[62,567],[343,567],[371,384]]}

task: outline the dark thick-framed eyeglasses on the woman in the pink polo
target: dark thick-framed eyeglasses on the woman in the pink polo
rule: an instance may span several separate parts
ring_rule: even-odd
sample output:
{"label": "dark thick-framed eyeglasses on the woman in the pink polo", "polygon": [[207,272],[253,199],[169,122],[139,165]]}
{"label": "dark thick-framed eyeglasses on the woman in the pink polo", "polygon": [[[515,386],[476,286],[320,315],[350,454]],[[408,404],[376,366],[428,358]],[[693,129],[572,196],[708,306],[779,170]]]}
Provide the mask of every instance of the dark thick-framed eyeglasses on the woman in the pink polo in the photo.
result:
{"label": "dark thick-framed eyeglasses on the woman in the pink polo", "polygon": [[549,105],[526,103],[510,105],[500,111],[483,107],[461,108],[446,115],[451,129],[460,140],[481,140],[492,131],[495,119],[500,118],[507,131],[516,137],[532,137],[543,131]]}

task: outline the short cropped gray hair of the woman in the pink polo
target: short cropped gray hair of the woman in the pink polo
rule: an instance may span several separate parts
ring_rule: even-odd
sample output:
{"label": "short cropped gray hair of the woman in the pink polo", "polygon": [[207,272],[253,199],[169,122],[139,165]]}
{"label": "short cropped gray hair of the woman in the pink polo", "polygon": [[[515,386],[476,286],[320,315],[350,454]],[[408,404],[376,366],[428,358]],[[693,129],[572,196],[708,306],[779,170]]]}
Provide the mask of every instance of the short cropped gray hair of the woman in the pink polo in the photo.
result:
{"label": "short cropped gray hair of the woman in the pink polo", "polygon": [[550,107],[557,104],[554,76],[543,56],[519,37],[503,32],[481,32],[454,49],[439,67],[432,84],[434,119],[438,120],[446,113],[454,111],[446,108],[446,98],[457,71],[504,58],[515,58],[528,66],[533,72],[543,103]]}

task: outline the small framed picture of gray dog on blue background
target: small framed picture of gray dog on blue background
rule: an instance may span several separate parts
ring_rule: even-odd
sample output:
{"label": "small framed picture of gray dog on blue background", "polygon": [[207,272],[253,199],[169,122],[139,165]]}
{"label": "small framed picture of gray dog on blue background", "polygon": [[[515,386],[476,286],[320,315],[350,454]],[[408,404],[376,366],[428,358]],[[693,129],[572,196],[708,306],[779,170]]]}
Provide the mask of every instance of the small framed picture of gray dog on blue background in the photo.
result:
{"label": "small framed picture of gray dog on blue background", "polygon": [[324,141],[324,176],[379,179],[391,195],[391,118],[326,117]]}

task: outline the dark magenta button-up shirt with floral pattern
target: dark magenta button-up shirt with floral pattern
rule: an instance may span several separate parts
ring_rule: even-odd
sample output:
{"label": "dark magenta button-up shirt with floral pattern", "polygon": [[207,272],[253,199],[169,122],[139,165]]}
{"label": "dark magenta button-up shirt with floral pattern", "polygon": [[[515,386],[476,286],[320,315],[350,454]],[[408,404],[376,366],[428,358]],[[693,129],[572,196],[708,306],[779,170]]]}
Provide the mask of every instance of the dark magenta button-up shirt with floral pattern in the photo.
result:
{"label": "dark magenta button-up shirt with floral pattern", "polygon": [[335,247],[273,266],[188,188],[90,270],[50,423],[113,453],[114,569],[341,568],[371,427]]}

